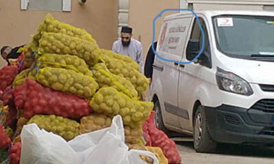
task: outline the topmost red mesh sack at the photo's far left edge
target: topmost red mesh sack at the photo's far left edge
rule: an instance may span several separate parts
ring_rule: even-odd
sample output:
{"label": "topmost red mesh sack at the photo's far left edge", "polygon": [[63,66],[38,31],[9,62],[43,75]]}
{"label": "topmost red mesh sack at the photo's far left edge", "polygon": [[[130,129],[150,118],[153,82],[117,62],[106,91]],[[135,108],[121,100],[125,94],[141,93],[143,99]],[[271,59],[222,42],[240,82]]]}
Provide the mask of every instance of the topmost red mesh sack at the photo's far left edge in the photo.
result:
{"label": "topmost red mesh sack at the photo's far left edge", "polygon": [[6,87],[12,85],[14,78],[18,74],[17,66],[4,66],[0,70],[0,90],[5,90]]}

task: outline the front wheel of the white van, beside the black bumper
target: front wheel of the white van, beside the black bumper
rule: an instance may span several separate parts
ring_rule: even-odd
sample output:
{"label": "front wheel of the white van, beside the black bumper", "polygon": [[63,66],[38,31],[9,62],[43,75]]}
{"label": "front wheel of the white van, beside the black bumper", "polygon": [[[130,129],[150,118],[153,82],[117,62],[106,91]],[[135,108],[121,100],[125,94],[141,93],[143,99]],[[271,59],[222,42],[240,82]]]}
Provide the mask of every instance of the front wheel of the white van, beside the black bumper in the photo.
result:
{"label": "front wheel of the white van, beside the black bumper", "polygon": [[217,143],[208,133],[206,113],[201,105],[197,107],[193,124],[193,145],[196,152],[215,152]]}

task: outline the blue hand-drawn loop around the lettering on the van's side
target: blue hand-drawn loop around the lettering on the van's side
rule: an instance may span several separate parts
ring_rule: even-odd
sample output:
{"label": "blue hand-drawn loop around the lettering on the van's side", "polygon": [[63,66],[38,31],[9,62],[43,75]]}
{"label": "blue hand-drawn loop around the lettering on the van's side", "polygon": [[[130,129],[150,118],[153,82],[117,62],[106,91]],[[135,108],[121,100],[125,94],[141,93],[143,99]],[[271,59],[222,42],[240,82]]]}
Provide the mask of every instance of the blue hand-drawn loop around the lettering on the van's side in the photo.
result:
{"label": "blue hand-drawn loop around the lettering on the van's side", "polygon": [[[155,40],[155,20],[157,20],[157,18],[161,17],[162,14],[163,14],[164,12],[166,12],[166,11],[189,11],[189,12],[192,12],[192,14],[195,15],[196,20],[197,20],[197,23],[198,23],[198,25],[199,25],[199,27],[200,27],[200,29],[201,29],[201,33],[203,34],[203,44],[202,44],[202,46],[201,46],[201,51],[199,52],[199,54],[198,54],[194,59],[192,59],[191,61],[188,61],[188,62],[180,62],[180,61],[165,59],[164,57],[160,57],[160,55],[158,55],[158,53],[156,53],[156,51],[155,51],[155,49],[154,49],[154,40]],[[155,53],[155,55],[156,55],[157,57],[159,57],[159,59],[162,59],[162,60],[164,60],[164,61],[174,62],[174,63],[177,63],[177,64],[190,64],[190,63],[192,63],[193,61],[195,61],[195,60],[201,55],[201,53],[203,52],[203,46],[204,46],[204,44],[205,44],[205,33],[203,33],[203,29],[201,28],[201,24],[200,24],[200,22],[199,22],[199,18],[198,18],[198,16],[197,16],[197,14],[196,14],[195,12],[193,12],[192,10],[190,10],[190,9],[165,9],[165,10],[162,10],[162,12],[160,12],[160,14],[158,14],[158,16],[156,16],[156,17],[154,18],[154,20],[153,20],[153,39],[152,39],[152,44],[151,44],[151,45],[152,45],[152,50],[153,50],[153,52]]]}

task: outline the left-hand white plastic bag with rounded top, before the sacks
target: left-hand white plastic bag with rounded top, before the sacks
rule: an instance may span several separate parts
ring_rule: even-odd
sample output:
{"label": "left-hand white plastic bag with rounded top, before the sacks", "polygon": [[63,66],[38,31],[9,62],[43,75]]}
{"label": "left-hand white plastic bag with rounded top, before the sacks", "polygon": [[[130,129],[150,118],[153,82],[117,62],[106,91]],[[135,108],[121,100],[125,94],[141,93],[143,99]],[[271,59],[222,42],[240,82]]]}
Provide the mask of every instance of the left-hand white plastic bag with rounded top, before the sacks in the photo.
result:
{"label": "left-hand white plastic bag with rounded top, before the sacks", "polygon": [[76,152],[62,137],[40,131],[36,124],[23,127],[21,164],[80,164]]}

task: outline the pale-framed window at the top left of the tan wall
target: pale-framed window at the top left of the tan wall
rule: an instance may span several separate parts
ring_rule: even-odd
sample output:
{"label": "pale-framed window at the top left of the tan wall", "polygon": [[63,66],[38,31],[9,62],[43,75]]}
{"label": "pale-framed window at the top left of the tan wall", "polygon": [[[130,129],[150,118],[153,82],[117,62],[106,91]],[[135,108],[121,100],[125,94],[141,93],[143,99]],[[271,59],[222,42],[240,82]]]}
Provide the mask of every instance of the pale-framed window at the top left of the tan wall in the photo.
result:
{"label": "pale-framed window at the top left of the tan wall", "polygon": [[21,10],[71,11],[71,0],[21,0]]}

